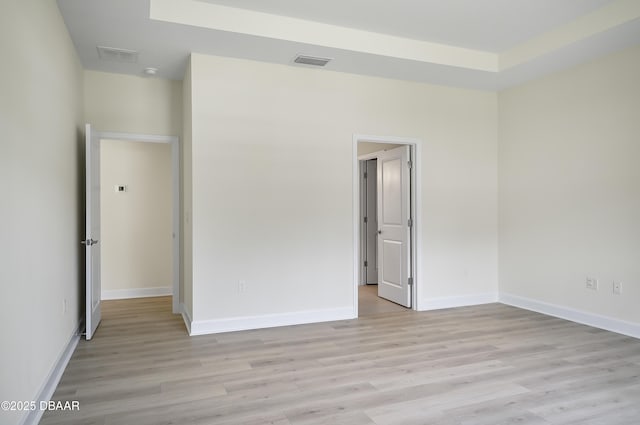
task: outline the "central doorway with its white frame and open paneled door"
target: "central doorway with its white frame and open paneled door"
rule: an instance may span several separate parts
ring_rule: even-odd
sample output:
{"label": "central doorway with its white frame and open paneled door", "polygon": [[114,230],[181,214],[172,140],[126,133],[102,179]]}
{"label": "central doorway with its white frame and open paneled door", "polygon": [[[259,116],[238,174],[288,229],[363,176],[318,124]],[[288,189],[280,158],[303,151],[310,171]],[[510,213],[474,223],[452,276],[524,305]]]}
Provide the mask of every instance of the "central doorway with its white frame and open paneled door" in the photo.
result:
{"label": "central doorway with its white frame and open paneled door", "polygon": [[417,139],[354,136],[356,315],[418,308],[418,150]]}

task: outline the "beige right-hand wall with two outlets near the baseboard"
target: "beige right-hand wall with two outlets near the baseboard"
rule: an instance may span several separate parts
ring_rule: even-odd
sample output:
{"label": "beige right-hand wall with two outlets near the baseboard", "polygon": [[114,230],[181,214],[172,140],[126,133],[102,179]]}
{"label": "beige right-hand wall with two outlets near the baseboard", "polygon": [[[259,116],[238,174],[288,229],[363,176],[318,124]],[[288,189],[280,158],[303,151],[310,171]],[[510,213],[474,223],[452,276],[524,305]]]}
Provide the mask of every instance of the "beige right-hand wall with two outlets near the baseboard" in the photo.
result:
{"label": "beige right-hand wall with two outlets near the baseboard", "polygon": [[502,292],[640,323],[639,75],[634,47],[500,93]]}

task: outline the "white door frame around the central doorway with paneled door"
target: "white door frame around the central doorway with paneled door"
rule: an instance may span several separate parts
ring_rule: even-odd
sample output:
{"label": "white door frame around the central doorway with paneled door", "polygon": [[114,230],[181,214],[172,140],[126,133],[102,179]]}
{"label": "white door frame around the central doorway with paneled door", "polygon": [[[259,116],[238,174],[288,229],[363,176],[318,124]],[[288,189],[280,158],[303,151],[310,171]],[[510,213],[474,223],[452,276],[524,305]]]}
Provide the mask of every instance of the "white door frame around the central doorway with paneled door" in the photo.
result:
{"label": "white door frame around the central doorway with paneled door", "polygon": [[413,263],[413,287],[411,288],[411,309],[420,310],[420,298],[418,287],[422,283],[422,237],[420,236],[420,224],[422,217],[422,140],[407,137],[372,136],[366,134],[353,135],[353,311],[358,317],[358,287],[360,282],[360,161],[377,158],[376,153],[358,157],[358,143],[374,142],[395,145],[413,146],[411,167],[411,216],[413,228],[411,238],[411,261]]}

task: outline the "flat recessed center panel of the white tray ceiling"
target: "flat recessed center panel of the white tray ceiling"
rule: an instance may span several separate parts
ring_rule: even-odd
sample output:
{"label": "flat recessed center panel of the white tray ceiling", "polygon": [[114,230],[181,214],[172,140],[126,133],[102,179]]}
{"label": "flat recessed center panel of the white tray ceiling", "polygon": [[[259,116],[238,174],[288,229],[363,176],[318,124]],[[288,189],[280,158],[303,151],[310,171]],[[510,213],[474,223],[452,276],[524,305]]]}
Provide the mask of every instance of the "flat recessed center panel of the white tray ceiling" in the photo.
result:
{"label": "flat recessed center panel of the white tray ceiling", "polygon": [[499,53],[611,0],[202,0]]}

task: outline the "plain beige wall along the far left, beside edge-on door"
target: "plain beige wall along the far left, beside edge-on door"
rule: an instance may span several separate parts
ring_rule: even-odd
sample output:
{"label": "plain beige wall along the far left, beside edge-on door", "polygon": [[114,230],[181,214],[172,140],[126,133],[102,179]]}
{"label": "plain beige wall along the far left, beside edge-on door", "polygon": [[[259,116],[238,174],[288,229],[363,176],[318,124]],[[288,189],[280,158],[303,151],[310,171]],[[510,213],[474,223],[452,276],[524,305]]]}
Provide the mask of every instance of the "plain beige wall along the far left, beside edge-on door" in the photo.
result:
{"label": "plain beige wall along the far left, beside edge-on door", "polygon": [[0,52],[0,400],[37,400],[80,316],[82,69],[53,1],[3,1]]}

